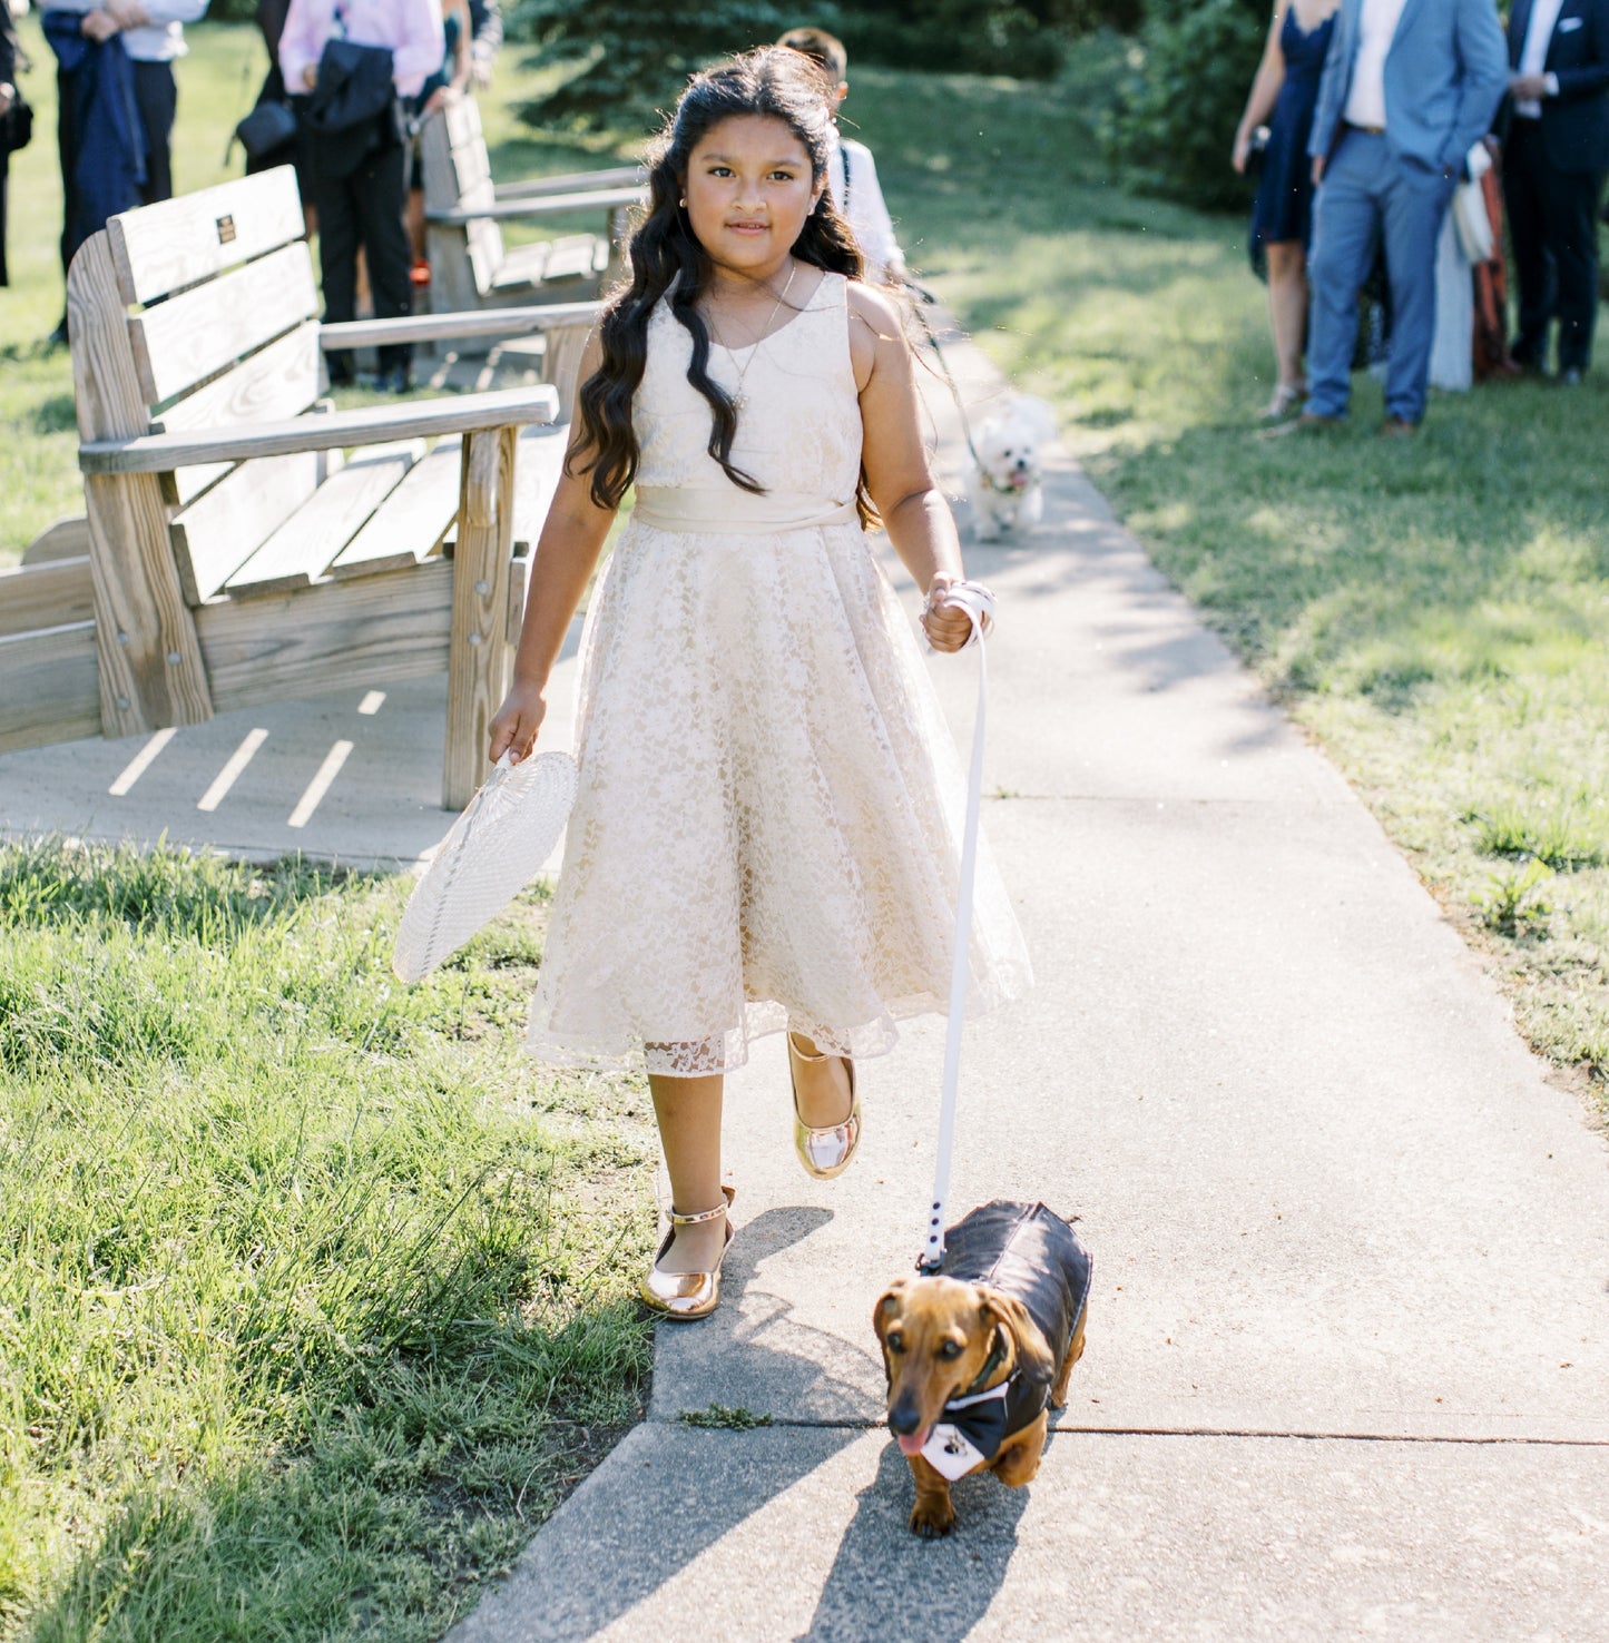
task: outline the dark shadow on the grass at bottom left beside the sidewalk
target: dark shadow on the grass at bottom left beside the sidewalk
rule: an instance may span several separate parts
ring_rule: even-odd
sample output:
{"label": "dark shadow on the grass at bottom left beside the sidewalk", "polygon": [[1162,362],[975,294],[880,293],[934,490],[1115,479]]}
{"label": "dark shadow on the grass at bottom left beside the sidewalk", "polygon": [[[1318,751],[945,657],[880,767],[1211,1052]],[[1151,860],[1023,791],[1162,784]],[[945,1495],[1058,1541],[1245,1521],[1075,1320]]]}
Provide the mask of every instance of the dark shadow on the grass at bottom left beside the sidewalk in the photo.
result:
{"label": "dark shadow on the grass at bottom left beside the sidewalk", "polygon": [[623,1434],[549,1418],[537,1365],[636,1328],[625,1314],[503,1329],[496,1354],[396,1360],[368,1385],[325,1377],[284,1454],[263,1443],[219,1475],[128,1497],[30,1638],[439,1636]]}

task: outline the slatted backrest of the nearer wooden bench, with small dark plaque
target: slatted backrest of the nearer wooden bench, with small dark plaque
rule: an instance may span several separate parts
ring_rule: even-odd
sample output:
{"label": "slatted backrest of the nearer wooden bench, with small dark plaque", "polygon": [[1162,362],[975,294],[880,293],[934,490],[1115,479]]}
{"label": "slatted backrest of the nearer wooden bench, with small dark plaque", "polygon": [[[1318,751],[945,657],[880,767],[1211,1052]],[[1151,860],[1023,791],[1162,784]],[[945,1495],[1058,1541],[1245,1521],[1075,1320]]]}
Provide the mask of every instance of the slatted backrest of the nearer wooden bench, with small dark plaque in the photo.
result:
{"label": "slatted backrest of the nearer wooden bench, with small dark plaque", "polygon": [[[299,416],[320,393],[317,289],[289,166],[125,212],[72,268],[84,439]],[[189,605],[316,490],[312,453],[158,476]]]}

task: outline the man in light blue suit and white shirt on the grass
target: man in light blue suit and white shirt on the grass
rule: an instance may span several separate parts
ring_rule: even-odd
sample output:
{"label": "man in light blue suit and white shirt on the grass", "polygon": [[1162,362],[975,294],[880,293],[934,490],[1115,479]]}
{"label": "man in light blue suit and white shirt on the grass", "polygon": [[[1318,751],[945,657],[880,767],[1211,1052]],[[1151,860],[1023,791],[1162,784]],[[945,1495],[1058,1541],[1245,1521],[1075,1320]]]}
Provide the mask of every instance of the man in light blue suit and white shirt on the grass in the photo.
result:
{"label": "man in light blue suit and white shirt on the grass", "polygon": [[1308,141],[1320,187],[1302,424],[1346,417],[1358,292],[1382,240],[1392,337],[1381,432],[1412,434],[1423,417],[1436,238],[1507,79],[1492,0],[1343,0]]}

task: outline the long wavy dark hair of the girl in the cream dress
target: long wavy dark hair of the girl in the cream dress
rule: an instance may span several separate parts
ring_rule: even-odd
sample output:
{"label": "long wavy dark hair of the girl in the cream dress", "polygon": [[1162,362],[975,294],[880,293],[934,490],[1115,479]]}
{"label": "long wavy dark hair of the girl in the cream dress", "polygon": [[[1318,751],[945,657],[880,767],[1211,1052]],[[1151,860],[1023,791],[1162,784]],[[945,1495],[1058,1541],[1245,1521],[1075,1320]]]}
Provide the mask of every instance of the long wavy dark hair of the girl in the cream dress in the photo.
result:
{"label": "long wavy dark hair of the girl in the cream dress", "polygon": [[[648,320],[667,292],[671,312],[687,327],[694,343],[687,381],[710,403],[708,452],[733,485],[754,493],[764,490],[731,462],[738,409],[708,373],[710,332],[697,307],[715,265],[679,205],[694,148],[722,120],[736,115],[771,115],[784,122],[810,156],[812,181],[818,184],[827,174],[832,87],[809,58],[786,46],[766,46],[689,82],[675,113],[649,150],[648,210],[628,246],[631,283],[615,292],[598,320],[603,363],[577,394],[580,472],[592,475],[592,499],[600,508],[618,508],[636,478],[641,450],[631,426],[631,399],[648,363]],[[802,263],[860,278],[855,237],[827,191],[792,250]],[[860,501],[864,518],[864,498]]]}

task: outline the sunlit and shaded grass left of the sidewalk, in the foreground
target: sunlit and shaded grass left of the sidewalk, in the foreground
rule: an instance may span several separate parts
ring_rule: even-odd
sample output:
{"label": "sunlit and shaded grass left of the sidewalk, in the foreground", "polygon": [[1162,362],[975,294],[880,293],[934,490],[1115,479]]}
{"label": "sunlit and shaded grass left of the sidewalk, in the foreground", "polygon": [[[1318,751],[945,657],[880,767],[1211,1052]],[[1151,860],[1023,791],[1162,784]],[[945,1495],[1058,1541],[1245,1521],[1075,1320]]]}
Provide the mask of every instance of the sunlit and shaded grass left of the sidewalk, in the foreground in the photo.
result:
{"label": "sunlit and shaded grass left of the sidewalk, in the foreground", "polygon": [[646,1098],[404,894],[0,849],[0,1636],[436,1636],[638,1418]]}

